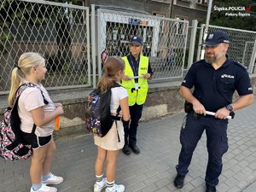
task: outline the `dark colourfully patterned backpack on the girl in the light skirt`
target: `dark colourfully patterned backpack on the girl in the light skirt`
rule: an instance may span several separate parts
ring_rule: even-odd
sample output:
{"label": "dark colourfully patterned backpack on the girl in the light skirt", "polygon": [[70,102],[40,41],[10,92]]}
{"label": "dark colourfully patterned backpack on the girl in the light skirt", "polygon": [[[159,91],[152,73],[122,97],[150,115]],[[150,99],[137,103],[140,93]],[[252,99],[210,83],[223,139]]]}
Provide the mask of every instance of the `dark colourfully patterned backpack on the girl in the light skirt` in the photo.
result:
{"label": "dark colourfully patterned backpack on the girl in the light skirt", "polygon": [[[117,83],[113,85],[113,87],[119,86]],[[104,137],[111,129],[113,122],[121,120],[121,117],[118,116],[121,110],[120,106],[116,116],[113,116],[110,113],[110,101],[111,89],[104,93],[93,90],[88,96],[85,107],[85,126],[93,135]]]}

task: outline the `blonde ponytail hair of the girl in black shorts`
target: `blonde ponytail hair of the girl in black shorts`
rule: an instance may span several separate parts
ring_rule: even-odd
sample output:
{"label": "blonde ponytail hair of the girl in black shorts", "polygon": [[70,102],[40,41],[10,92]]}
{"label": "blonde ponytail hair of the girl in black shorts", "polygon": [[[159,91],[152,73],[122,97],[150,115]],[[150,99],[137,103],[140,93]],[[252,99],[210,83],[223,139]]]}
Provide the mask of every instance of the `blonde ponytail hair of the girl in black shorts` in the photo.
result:
{"label": "blonde ponytail hair of the girl in black shorts", "polygon": [[9,107],[15,102],[15,93],[20,86],[21,80],[30,74],[32,67],[38,67],[42,62],[44,62],[44,57],[38,53],[27,52],[20,55],[18,65],[13,69],[11,74],[11,86],[8,98]]}

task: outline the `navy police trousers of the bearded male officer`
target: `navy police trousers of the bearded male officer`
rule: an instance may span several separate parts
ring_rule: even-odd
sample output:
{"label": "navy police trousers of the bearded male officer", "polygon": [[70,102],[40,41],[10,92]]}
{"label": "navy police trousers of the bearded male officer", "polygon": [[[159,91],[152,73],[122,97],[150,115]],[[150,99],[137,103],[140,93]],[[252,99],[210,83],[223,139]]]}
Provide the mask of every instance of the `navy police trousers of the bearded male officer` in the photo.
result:
{"label": "navy police trousers of the bearded male officer", "polygon": [[227,119],[216,119],[214,116],[195,116],[188,113],[180,131],[182,149],[176,166],[177,173],[186,175],[193,152],[201,135],[206,131],[208,163],[205,181],[209,185],[218,185],[218,177],[222,172],[222,157],[228,151]]}

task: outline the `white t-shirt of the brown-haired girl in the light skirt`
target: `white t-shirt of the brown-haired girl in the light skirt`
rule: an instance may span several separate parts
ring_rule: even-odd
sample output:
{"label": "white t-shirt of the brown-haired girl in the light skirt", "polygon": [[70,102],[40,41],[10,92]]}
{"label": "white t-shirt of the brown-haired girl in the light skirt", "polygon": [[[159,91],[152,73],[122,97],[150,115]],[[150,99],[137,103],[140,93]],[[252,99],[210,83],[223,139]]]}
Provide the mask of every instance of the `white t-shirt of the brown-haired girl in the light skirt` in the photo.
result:
{"label": "white t-shirt of the brown-haired girl in the light skirt", "polygon": [[117,108],[119,108],[120,100],[128,97],[127,90],[124,87],[113,87],[111,89],[111,102],[110,102],[110,112],[115,114]]}

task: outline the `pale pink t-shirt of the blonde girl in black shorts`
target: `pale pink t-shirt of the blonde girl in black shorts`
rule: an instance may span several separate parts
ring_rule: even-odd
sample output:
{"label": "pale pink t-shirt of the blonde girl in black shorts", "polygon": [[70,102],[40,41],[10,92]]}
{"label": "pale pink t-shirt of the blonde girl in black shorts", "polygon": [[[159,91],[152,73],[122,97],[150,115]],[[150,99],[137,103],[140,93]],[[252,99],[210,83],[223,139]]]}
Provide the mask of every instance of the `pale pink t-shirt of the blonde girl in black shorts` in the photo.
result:
{"label": "pale pink t-shirt of the blonde girl in black shorts", "polygon": [[[41,91],[36,87],[28,87],[24,90],[18,102],[18,113],[20,116],[20,129],[21,131],[31,133],[34,121],[32,119],[31,111],[36,108],[44,106],[44,113],[50,113],[55,110],[55,103],[51,101],[47,90],[44,89],[42,84],[37,84],[40,90],[43,91],[44,98],[49,104],[44,104],[44,98]],[[46,137],[52,134],[55,129],[55,119],[50,121],[48,124],[37,126],[35,134],[38,137]]]}

